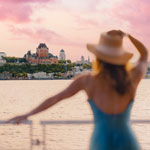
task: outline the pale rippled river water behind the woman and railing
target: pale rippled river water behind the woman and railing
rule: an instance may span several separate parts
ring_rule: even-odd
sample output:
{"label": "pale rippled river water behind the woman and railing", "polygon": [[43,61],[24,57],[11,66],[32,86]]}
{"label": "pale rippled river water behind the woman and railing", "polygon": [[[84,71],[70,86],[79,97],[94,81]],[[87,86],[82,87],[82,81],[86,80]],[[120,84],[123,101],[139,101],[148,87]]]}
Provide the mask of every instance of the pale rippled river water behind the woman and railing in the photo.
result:
{"label": "pale rippled river water behind the woman and railing", "polygon": [[[45,98],[53,96],[71,80],[48,81],[0,81],[0,120],[28,112]],[[131,119],[150,119],[150,80],[143,79],[137,90]],[[41,120],[91,120],[92,112],[86,94],[81,91],[72,98],[63,100],[49,110],[30,117],[33,120],[33,137],[42,140]],[[48,150],[88,150],[93,125],[48,125],[46,148]],[[132,125],[142,150],[150,149],[150,124]],[[30,149],[28,125],[0,126],[0,150]],[[42,146],[33,149],[41,150]]]}

